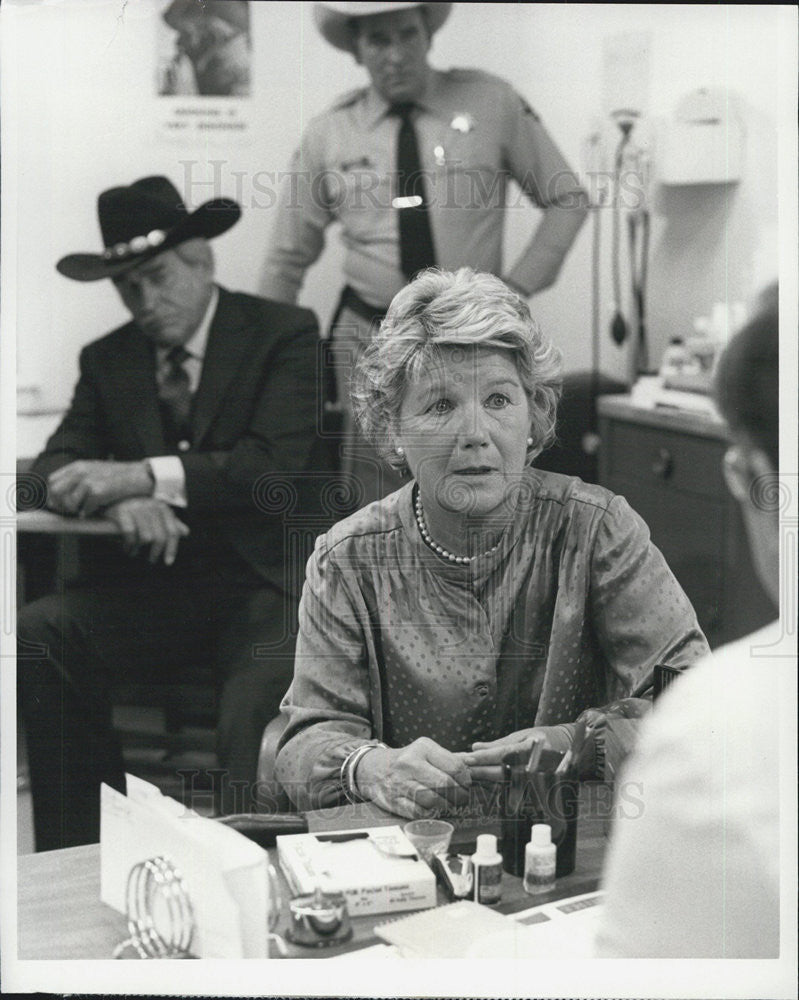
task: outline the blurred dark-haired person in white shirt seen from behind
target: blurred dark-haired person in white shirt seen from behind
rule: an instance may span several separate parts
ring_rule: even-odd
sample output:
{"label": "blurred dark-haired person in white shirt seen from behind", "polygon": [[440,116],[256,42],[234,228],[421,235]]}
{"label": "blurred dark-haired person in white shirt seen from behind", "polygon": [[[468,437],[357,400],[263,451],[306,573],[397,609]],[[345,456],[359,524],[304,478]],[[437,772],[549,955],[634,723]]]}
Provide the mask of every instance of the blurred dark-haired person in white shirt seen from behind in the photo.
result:
{"label": "blurred dark-haired person in white shirt seen from behind", "polygon": [[[762,302],[721,359],[716,397],[732,442],[727,483],[776,607],[779,322],[776,295]],[[621,775],[643,807],[614,826],[599,955],[778,957],[778,706],[796,669],[775,655],[781,637],[775,621],[717,650],[655,706]]]}

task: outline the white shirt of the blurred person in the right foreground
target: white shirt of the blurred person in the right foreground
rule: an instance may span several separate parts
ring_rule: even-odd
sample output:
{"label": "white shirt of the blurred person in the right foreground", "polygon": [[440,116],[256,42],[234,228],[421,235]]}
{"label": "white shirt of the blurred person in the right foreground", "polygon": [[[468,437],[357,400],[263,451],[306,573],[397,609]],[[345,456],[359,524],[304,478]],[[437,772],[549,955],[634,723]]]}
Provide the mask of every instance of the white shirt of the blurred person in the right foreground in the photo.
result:
{"label": "white shirt of the blurred person in the right foreground", "polygon": [[737,660],[674,684],[622,772],[598,957],[779,953],[775,675]]}

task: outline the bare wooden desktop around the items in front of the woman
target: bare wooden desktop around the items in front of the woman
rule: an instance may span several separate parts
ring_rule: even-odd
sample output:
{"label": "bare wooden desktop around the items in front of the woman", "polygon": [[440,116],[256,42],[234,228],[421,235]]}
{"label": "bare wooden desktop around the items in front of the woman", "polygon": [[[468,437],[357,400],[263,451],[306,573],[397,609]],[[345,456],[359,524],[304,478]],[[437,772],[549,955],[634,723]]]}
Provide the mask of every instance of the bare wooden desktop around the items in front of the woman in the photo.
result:
{"label": "bare wooden desktop around the items in front of the woman", "polygon": [[[552,892],[531,897],[521,880],[503,875],[502,902],[497,910],[518,913],[539,903],[593,892],[599,883],[605,853],[605,826],[609,795],[597,794],[603,786],[587,785],[581,790],[578,825],[577,865],[571,875],[558,879]],[[403,823],[371,804],[342,806],[308,814],[312,831],[348,829],[363,825]],[[481,827],[491,831],[490,824]],[[275,851],[270,851],[275,862]],[[276,931],[287,927],[289,889],[278,873],[283,897],[283,913]],[[26,854],[18,858],[18,935],[20,959],[107,959],[114,947],[127,937],[127,922],[100,902],[100,846],[72,847],[63,851]],[[445,902],[443,894],[439,903]],[[290,958],[329,958],[374,945],[374,927],[384,923],[386,914],[353,918],[353,937],[334,948],[299,948],[287,942]],[[275,949],[272,948],[273,957]]]}

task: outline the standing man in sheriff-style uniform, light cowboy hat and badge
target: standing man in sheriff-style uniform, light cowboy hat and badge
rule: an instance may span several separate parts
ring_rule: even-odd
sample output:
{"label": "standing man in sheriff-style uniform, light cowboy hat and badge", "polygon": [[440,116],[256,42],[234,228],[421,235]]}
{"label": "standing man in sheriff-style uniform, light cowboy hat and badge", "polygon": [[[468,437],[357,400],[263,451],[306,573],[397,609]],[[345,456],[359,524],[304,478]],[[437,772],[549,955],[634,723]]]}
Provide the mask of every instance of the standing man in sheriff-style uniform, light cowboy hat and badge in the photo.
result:
{"label": "standing man in sheriff-style uniform, light cowboy hat and badge", "polygon": [[[424,267],[468,265],[528,296],[557,278],[587,196],[538,115],[508,83],[427,61],[451,3],[317,3],[316,24],[370,78],[309,124],[281,194],[263,292],[295,302],[325,229],[342,225],[345,287],[331,344],[339,405],[359,346],[394,294]],[[510,178],[542,209],[517,261],[502,261]],[[345,470],[360,502],[397,488],[351,426]]]}

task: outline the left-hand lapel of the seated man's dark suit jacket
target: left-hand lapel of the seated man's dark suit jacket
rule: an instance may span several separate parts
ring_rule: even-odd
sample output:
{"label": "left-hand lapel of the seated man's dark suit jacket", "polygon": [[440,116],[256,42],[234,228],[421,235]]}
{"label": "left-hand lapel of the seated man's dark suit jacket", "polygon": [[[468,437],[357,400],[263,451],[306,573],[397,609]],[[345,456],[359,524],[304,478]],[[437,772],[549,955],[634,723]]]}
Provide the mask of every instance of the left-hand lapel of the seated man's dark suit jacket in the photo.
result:
{"label": "left-hand lapel of the seated man's dark suit jacket", "polygon": [[131,323],[130,336],[116,356],[114,390],[120,409],[130,415],[129,426],[145,455],[163,455],[165,450],[158,390],[155,384],[155,351],[143,333]]}

